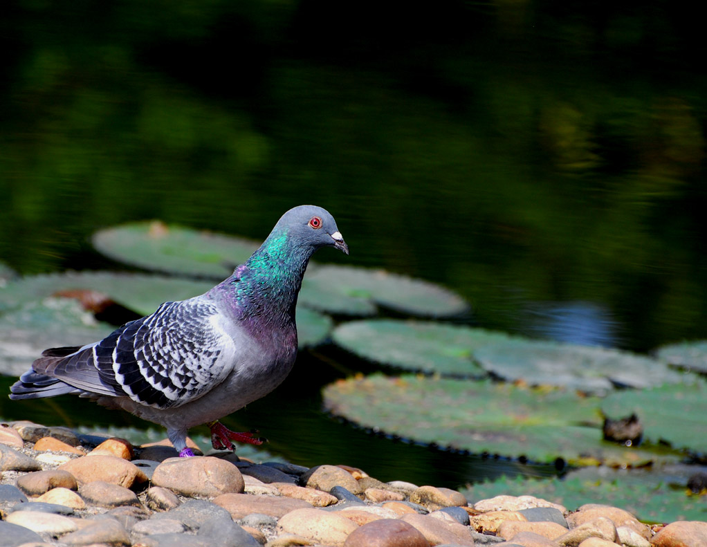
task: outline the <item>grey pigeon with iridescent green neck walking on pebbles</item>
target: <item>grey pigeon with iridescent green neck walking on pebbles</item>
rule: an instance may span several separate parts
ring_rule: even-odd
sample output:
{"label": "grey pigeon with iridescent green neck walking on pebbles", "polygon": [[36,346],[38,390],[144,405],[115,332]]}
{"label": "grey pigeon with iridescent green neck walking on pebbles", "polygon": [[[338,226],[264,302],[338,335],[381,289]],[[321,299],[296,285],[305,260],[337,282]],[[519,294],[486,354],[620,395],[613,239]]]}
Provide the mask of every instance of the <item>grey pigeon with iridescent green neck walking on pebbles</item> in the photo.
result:
{"label": "grey pigeon with iridescent green neck walking on pebbles", "polygon": [[180,457],[187,430],[206,423],[216,449],[262,444],[218,420],[275,389],[297,355],[295,307],[312,254],[349,254],[334,218],[303,205],[287,211],[250,259],[206,293],[165,302],[105,339],[51,348],[10,388],[10,399],[88,397],[167,428]]}

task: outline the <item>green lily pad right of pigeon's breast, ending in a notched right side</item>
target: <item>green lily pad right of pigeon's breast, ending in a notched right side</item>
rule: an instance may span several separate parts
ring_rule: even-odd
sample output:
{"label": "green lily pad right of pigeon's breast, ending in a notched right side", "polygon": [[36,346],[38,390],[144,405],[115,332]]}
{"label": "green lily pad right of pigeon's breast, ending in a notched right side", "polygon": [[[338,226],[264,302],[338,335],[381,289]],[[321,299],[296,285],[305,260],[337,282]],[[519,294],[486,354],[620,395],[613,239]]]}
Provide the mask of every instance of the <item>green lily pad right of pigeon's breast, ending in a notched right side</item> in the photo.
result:
{"label": "green lily pad right of pigeon's breast, ending in a notched right side", "polygon": [[509,336],[450,324],[370,319],[339,325],[332,339],[382,365],[469,377],[484,373],[472,359],[474,350],[484,343],[507,341]]}

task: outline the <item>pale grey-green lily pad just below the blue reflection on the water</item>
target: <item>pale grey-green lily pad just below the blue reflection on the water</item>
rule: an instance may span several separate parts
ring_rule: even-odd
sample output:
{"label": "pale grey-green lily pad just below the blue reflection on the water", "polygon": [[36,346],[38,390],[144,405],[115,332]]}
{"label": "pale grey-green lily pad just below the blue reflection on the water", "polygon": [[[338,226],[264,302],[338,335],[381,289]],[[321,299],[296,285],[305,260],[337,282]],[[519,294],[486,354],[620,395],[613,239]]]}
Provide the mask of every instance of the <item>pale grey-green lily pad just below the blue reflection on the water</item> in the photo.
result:
{"label": "pale grey-green lily pad just below the blue reflection on the water", "polygon": [[681,382],[684,374],[662,360],[592,346],[521,339],[486,344],[474,351],[481,367],[505,380],[525,380],[589,393],[621,387]]}

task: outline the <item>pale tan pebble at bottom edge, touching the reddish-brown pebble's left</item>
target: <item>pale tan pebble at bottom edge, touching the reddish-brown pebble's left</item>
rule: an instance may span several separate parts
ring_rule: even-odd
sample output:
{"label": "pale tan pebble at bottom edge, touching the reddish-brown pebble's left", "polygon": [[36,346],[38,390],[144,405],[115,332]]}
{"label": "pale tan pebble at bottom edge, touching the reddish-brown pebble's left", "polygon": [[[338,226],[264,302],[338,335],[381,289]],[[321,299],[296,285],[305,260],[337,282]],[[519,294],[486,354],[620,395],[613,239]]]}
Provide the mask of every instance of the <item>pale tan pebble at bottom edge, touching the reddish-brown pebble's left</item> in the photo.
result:
{"label": "pale tan pebble at bottom edge, touching the reddish-brown pebble's left", "polygon": [[349,534],[357,528],[358,524],[346,517],[314,507],[288,512],[277,523],[280,532],[296,534],[331,546],[343,546]]}

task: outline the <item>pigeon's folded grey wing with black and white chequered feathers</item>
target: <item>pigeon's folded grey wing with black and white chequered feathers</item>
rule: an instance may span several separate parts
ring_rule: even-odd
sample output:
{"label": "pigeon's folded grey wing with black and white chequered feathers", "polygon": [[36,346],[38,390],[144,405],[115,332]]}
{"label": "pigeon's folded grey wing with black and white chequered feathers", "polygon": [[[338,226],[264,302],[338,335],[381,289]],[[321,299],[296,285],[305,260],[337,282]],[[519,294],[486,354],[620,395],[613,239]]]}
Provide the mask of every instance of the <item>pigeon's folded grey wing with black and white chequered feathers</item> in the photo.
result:
{"label": "pigeon's folded grey wing with black and white chequered feathers", "polygon": [[219,323],[211,302],[165,302],[71,355],[37,359],[33,370],[89,396],[128,396],[156,408],[181,406],[209,392],[233,368],[233,339]]}

